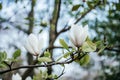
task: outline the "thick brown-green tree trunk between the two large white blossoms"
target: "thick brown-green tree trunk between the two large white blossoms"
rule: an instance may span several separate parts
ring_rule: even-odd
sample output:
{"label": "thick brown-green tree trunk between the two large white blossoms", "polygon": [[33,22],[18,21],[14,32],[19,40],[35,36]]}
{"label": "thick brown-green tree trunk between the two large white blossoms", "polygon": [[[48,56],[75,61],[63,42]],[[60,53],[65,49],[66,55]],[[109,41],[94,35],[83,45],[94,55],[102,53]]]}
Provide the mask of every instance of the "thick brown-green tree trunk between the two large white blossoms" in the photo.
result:
{"label": "thick brown-green tree trunk between the two large white blossoms", "polygon": [[[54,45],[54,42],[56,40],[57,37],[57,22],[58,22],[58,18],[59,18],[59,14],[60,14],[60,4],[61,4],[61,0],[55,0],[54,1],[54,11],[52,14],[52,19],[50,20],[50,33],[49,33],[49,45],[50,47],[52,47]],[[51,58],[53,59],[53,50],[50,50],[51,53]],[[52,66],[48,67],[48,71],[47,71],[48,75],[52,74]],[[51,80],[51,79],[47,79],[47,80]]]}

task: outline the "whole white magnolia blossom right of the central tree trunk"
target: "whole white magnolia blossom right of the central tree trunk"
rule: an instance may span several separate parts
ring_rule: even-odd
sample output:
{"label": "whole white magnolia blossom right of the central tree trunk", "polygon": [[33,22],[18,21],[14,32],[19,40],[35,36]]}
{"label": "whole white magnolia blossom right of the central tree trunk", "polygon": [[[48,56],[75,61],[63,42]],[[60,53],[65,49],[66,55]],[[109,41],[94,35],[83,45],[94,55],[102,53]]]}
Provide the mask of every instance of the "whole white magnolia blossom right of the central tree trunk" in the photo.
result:
{"label": "whole white magnolia blossom right of the central tree trunk", "polygon": [[80,47],[86,40],[88,35],[88,26],[82,27],[77,25],[72,25],[69,38],[71,42],[76,46]]}

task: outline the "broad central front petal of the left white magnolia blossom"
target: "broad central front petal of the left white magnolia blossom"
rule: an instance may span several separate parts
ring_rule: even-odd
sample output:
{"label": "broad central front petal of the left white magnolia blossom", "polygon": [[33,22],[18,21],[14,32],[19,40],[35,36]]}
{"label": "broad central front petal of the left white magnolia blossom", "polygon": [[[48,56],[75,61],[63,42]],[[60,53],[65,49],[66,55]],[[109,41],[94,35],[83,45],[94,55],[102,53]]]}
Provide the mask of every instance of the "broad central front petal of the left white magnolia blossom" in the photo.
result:
{"label": "broad central front petal of the left white magnolia blossom", "polygon": [[36,54],[39,54],[39,49],[38,49],[38,38],[34,34],[30,34],[28,36],[29,43],[31,47],[33,48],[34,52]]}

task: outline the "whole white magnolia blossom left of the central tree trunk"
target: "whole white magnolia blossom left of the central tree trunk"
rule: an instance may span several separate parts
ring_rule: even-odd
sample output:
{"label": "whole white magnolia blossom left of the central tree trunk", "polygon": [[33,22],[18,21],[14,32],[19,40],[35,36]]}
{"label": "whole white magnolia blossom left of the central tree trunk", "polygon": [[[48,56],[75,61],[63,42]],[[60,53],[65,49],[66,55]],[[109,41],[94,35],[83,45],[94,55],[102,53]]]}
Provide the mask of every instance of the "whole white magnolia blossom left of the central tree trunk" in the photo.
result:
{"label": "whole white magnolia blossom left of the central tree trunk", "polygon": [[31,54],[37,56],[39,55],[41,49],[43,47],[43,38],[40,36],[39,38],[34,34],[30,34],[26,39],[25,48]]}

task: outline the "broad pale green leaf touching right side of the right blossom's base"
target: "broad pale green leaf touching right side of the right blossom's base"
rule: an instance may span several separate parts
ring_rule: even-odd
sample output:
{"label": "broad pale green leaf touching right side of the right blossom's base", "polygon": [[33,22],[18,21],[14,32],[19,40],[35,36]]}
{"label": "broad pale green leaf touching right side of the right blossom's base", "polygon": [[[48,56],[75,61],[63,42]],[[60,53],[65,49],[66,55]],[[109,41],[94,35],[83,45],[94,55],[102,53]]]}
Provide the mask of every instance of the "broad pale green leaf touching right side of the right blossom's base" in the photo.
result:
{"label": "broad pale green leaf touching right side of the right blossom's base", "polygon": [[93,43],[90,40],[87,40],[83,45],[82,45],[82,51],[84,52],[93,52],[96,50],[96,44]]}

